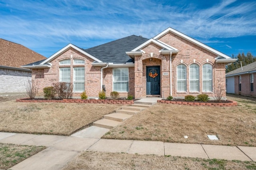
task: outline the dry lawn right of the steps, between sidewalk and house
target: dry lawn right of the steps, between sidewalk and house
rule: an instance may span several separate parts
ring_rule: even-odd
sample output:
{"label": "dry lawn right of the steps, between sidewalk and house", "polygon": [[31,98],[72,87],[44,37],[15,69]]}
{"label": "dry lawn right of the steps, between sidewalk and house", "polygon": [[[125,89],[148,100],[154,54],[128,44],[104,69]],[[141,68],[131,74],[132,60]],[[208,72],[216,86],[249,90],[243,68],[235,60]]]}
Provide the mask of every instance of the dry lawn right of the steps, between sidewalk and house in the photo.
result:
{"label": "dry lawn right of the steps, between sidewalk and house", "polygon": [[[113,128],[103,138],[256,146],[256,102],[254,98],[237,97],[228,99],[238,101],[238,107],[157,103]],[[209,140],[208,134],[217,135],[220,140]]]}

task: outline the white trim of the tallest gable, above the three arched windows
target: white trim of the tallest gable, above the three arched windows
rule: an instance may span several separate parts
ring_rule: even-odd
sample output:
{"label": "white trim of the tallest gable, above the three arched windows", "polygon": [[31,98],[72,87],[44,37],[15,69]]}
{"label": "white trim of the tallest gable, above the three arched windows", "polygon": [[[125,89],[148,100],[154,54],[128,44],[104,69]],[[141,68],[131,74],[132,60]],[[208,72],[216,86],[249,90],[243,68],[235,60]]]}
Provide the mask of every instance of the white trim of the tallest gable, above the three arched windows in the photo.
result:
{"label": "white trim of the tallest gable, above the three arched windows", "polygon": [[225,59],[230,59],[231,57],[229,57],[228,55],[224,54],[224,53],[221,53],[220,51],[216,50],[216,49],[213,49],[212,47],[209,47],[208,45],[204,44],[204,43],[201,43],[197,40],[195,40],[194,38],[191,38],[173,28],[167,28],[166,30],[164,30],[163,32],[161,32],[160,34],[156,35],[153,39],[155,40],[158,40],[159,38],[161,38],[162,36],[168,34],[169,32],[181,37],[181,38],[184,38],[185,40],[188,40],[189,42],[192,42],[208,51],[210,51],[211,53],[214,53],[216,55],[218,55],[218,57],[223,57]]}

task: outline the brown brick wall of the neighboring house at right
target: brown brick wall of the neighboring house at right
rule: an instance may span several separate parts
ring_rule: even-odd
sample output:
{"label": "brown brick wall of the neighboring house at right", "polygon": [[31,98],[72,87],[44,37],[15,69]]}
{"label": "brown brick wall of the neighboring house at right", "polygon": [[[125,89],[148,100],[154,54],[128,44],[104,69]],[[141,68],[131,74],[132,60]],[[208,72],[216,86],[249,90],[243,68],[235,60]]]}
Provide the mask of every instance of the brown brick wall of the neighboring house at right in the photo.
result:
{"label": "brown brick wall of the neighboring house at right", "polygon": [[255,85],[255,79],[256,79],[256,73],[252,73],[254,76],[254,91],[251,92],[250,89],[250,74],[243,74],[241,75],[241,91],[238,91],[238,79],[239,76],[235,76],[235,94],[237,95],[245,95],[245,96],[256,96],[256,85]]}

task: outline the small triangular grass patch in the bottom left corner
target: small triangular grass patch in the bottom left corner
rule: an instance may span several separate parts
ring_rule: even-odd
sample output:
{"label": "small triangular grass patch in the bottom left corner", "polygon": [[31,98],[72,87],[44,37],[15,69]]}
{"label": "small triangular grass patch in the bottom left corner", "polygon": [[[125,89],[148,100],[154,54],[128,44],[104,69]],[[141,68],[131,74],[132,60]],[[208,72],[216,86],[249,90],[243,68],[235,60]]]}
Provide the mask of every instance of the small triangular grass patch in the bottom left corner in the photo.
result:
{"label": "small triangular grass patch in the bottom left corner", "polygon": [[45,148],[45,146],[0,143],[0,169],[10,168]]}

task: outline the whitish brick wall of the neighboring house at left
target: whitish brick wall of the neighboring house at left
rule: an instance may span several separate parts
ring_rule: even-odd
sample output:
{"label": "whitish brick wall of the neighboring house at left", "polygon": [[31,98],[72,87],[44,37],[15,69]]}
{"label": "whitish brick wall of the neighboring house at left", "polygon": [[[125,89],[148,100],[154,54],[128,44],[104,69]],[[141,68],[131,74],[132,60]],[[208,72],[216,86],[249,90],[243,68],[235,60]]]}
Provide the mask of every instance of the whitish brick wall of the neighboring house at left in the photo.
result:
{"label": "whitish brick wall of the neighboring house at left", "polygon": [[24,93],[29,80],[30,71],[0,68],[0,93]]}

